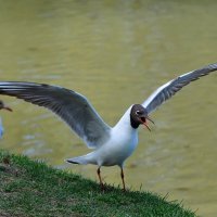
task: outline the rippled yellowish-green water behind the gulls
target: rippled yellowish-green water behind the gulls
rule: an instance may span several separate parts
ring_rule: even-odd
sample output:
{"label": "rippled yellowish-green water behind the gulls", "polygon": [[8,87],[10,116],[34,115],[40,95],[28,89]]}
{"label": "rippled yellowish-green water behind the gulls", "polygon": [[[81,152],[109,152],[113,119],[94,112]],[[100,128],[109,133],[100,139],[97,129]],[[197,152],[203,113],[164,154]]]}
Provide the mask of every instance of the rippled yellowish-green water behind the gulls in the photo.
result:
{"label": "rippled yellowish-green water behind the gulls", "polygon": [[[0,78],[48,82],[87,95],[115,125],[175,76],[216,62],[216,1],[27,1],[0,2]],[[183,200],[200,215],[217,213],[216,79],[184,88],[152,115],[150,133],[126,162],[127,186]],[[42,158],[97,179],[94,166],[63,159],[88,152],[50,112],[11,98],[1,113],[1,148]],[[117,167],[104,180],[119,184]]]}

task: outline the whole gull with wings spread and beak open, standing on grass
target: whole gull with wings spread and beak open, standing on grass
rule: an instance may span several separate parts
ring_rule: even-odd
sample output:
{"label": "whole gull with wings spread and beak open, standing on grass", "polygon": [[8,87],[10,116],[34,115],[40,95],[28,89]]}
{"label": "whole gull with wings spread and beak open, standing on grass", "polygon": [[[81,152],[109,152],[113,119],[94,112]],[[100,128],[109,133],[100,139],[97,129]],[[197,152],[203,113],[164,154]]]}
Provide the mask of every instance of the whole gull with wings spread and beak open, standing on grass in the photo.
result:
{"label": "whole gull with wings spread and beak open, standing on grass", "polygon": [[82,94],[59,86],[25,81],[0,81],[0,94],[16,97],[44,106],[60,116],[92,152],[66,159],[72,164],[93,164],[100,186],[102,166],[119,166],[123,190],[124,163],[138,145],[138,128],[154,123],[150,114],[193,80],[217,71],[217,63],[183,74],[157,88],[143,103],[132,104],[114,127],[110,127]]}

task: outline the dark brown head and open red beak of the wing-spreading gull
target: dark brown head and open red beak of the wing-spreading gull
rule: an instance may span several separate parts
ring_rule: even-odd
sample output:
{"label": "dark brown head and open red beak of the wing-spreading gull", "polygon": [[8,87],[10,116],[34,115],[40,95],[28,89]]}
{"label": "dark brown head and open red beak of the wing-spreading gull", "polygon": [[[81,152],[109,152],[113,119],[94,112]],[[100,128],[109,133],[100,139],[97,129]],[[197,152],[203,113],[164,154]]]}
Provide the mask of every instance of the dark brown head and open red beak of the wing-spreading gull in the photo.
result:
{"label": "dark brown head and open red beak of the wing-spreading gull", "polygon": [[142,105],[132,105],[130,111],[131,127],[137,129],[140,125],[144,125],[150,130],[146,119],[153,123],[153,120],[148,116],[148,111]]}

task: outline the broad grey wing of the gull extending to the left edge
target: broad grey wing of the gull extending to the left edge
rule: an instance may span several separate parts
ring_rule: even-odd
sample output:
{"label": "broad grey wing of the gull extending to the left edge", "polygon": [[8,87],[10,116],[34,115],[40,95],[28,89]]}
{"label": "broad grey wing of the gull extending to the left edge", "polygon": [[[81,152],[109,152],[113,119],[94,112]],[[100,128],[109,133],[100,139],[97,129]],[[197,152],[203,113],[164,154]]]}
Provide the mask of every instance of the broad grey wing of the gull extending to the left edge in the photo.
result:
{"label": "broad grey wing of the gull extending to the left edge", "polygon": [[101,145],[110,137],[110,126],[84,95],[73,90],[43,84],[3,81],[0,82],[0,94],[16,97],[51,110],[67,123],[89,148]]}

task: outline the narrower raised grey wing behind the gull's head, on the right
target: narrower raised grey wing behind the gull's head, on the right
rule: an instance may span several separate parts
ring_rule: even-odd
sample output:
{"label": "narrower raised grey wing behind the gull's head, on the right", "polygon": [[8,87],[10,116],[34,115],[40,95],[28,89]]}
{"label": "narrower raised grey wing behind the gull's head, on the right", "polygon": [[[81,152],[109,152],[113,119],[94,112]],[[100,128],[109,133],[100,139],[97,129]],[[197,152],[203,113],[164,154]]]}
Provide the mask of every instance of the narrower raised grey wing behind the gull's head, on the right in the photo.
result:
{"label": "narrower raised grey wing behind the gull's head, on the right", "polygon": [[217,63],[207,65],[203,68],[192,71],[183,74],[178,78],[168,81],[156,89],[143,103],[142,105],[146,108],[148,114],[155,111],[166,100],[170,99],[176,92],[181,90],[182,87],[187,86],[193,80],[199,79],[202,76],[208,75],[209,73],[217,71]]}

